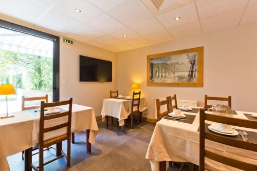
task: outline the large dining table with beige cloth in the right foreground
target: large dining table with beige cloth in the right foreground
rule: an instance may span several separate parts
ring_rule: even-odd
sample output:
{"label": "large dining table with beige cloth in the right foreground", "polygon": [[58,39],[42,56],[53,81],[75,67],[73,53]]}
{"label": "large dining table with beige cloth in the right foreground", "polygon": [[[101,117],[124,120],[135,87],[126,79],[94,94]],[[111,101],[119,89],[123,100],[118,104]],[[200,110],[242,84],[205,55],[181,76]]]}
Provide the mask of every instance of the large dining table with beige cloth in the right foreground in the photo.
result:
{"label": "large dining table with beige cloth in the right foreground", "polygon": [[[201,107],[191,107],[191,111],[181,111],[186,118],[175,119],[170,116],[163,117],[156,123],[147,153],[146,159],[150,161],[152,171],[163,168],[166,161],[173,162],[190,162],[199,165],[199,109]],[[212,113],[212,111],[206,111]],[[257,120],[252,117],[255,112],[235,111],[233,118],[248,120]],[[206,121],[207,126],[211,125]],[[208,128],[207,128],[208,129]],[[249,141],[257,143],[257,130],[243,127],[235,127],[237,131],[242,130],[248,133]],[[213,134],[216,134],[213,132]],[[233,139],[243,141],[240,135],[229,136]],[[254,151],[244,150],[221,143],[206,140],[205,148],[237,160],[248,163],[257,163],[257,153]],[[239,170],[234,167],[206,158],[205,165],[207,169],[219,171]]]}

